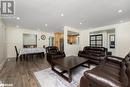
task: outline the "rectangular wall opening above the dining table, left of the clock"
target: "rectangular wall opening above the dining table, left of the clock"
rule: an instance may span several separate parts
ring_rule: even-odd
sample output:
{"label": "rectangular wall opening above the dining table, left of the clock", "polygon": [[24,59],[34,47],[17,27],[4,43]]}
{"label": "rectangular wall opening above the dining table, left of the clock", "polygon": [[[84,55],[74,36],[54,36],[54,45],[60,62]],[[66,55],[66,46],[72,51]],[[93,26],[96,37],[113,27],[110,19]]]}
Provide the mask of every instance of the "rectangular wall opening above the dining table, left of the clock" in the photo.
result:
{"label": "rectangular wall opening above the dining table, left of the clock", "polygon": [[23,34],[23,48],[35,48],[35,47],[37,47],[37,35]]}

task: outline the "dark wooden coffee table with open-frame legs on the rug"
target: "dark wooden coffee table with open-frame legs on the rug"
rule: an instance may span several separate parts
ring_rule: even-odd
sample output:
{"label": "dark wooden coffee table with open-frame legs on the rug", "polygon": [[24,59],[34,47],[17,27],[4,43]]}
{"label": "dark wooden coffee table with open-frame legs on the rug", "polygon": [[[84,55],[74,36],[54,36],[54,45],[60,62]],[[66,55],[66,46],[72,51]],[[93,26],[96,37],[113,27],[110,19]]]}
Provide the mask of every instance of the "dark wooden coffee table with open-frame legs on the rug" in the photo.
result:
{"label": "dark wooden coffee table with open-frame legs on the rug", "polygon": [[[58,58],[52,60],[53,64],[51,66],[52,70],[56,72],[58,75],[62,76],[68,82],[72,81],[72,70],[78,66],[81,66],[88,62],[88,59],[78,56],[69,56],[64,58]],[[90,64],[88,64],[88,68],[90,68]],[[59,72],[55,69],[55,66],[60,67],[63,71]],[[64,75],[64,73],[68,73],[68,77]]]}

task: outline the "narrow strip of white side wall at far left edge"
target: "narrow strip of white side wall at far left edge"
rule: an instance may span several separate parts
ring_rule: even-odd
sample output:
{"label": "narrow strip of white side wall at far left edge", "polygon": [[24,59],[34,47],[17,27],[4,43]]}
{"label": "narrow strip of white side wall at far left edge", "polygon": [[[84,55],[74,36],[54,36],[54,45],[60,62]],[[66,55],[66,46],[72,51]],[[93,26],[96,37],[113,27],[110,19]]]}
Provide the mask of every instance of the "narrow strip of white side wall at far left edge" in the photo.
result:
{"label": "narrow strip of white side wall at far left edge", "polygon": [[6,60],[6,32],[5,25],[0,19],[0,69]]}

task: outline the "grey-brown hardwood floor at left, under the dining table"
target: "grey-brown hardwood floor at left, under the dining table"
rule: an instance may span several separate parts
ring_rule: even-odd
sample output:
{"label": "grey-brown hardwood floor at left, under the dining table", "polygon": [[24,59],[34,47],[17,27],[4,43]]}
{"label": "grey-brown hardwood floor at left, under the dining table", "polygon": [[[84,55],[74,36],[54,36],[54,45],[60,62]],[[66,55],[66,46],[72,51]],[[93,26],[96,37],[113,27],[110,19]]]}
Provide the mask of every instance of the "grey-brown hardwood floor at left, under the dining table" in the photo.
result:
{"label": "grey-brown hardwood floor at left, under the dining table", "polygon": [[33,58],[28,61],[8,59],[0,71],[0,81],[4,84],[13,84],[13,87],[40,87],[33,72],[50,67],[46,58]]}

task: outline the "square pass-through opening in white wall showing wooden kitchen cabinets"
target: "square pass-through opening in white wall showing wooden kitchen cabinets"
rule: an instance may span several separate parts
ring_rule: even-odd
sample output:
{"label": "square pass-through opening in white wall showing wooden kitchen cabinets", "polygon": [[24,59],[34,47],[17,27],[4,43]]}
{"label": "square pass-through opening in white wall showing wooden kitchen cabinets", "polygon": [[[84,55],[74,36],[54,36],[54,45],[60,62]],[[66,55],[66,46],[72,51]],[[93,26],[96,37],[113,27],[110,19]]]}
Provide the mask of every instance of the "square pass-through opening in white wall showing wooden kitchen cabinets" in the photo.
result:
{"label": "square pass-through opening in white wall showing wooden kitchen cabinets", "polygon": [[79,33],[73,31],[67,31],[67,43],[72,44],[79,44]]}

